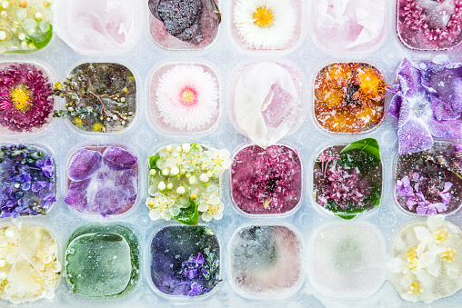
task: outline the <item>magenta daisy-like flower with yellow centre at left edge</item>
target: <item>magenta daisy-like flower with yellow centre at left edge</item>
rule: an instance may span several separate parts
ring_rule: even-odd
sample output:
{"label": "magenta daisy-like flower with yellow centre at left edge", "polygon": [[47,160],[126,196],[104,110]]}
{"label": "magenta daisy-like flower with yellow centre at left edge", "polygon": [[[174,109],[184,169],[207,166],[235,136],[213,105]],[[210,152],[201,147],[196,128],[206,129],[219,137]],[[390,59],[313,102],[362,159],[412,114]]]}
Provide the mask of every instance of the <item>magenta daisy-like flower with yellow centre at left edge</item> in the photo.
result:
{"label": "magenta daisy-like flower with yellow centre at left edge", "polygon": [[0,124],[14,132],[42,127],[53,112],[52,86],[34,65],[0,70]]}

